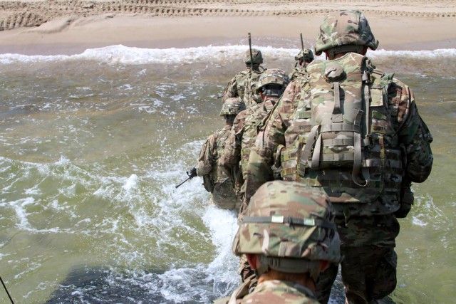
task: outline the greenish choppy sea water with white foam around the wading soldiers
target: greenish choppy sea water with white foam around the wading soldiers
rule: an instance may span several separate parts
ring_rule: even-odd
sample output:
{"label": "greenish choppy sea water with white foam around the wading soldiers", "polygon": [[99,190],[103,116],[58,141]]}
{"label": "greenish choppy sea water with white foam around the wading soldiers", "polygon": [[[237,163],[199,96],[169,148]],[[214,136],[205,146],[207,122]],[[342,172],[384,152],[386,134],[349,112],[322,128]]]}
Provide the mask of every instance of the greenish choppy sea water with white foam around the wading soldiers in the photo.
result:
{"label": "greenish choppy sea water with white foam around the wading soldiers", "polygon": [[[295,45],[255,47],[290,71]],[[16,303],[211,303],[237,287],[236,214],[209,205],[200,178],[175,185],[222,127],[218,97],[247,48],[0,54],[0,276]],[[413,88],[434,136],[388,303],[454,303],[456,50],[368,56]]]}

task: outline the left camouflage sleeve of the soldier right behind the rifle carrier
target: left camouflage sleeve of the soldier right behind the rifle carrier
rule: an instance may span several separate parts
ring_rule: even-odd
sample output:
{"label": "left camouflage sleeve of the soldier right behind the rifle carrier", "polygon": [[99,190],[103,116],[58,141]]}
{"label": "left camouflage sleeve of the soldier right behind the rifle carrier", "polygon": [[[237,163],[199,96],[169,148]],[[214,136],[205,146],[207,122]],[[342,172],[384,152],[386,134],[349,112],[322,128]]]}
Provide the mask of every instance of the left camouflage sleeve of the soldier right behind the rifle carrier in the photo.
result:
{"label": "left camouflage sleeve of the soldier right behind the rifle carrier", "polygon": [[234,118],[233,127],[227,142],[225,143],[223,155],[219,158],[220,169],[227,174],[231,175],[234,166],[239,166],[241,160],[241,142],[242,135],[244,134],[246,110],[239,112]]}

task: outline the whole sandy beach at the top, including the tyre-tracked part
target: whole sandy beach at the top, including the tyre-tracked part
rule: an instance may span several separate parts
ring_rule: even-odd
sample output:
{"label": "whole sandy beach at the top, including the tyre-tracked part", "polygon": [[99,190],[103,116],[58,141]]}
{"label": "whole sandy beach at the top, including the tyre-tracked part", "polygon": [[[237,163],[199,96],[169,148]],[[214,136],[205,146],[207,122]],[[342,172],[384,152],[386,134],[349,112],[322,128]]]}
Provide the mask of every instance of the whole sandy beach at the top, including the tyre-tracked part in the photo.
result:
{"label": "whole sandy beach at the top, including the tyre-tracked part", "polygon": [[207,46],[247,32],[314,41],[323,16],[338,9],[363,11],[380,48],[456,48],[453,0],[0,0],[0,53]]}

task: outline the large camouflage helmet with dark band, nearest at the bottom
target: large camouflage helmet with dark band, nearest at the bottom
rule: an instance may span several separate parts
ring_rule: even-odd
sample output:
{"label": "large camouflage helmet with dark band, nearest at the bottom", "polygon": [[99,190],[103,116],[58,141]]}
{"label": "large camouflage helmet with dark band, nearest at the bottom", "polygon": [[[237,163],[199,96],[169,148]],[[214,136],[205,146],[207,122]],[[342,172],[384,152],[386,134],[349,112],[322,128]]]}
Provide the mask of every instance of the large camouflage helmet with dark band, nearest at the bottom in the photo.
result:
{"label": "large camouflage helmet with dark band, nearest at the bottom", "polygon": [[[310,271],[316,278],[321,260],[341,261],[333,219],[331,203],[321,188],[266,182],[250,199],[232,252],[259,254],[263,272],[266,265],[286,273]],[[260,268],[257,271],[261,274]]]}

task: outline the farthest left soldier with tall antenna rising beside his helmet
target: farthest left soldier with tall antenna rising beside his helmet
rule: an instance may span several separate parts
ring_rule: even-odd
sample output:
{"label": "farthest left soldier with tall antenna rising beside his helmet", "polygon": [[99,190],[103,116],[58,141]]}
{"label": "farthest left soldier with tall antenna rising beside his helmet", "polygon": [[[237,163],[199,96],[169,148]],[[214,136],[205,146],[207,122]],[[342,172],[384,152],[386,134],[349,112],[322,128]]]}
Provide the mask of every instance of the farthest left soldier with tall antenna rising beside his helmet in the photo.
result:
{"label": "farthest left soldier with tall antenna rising beside his helmet", "polygon": [[[253,62],[252,62],[253,59]],[[245,70],[234,75],[232,80],[229,81],[227,88],[223,93],[222,101],[227,98],[238,97],[244,100],[244,103],[249,106],[249,99],[252,98],[252,85],[256,83],[264,68],[261,66],[263,63],[263,56],[261,51],[257,48],[252,48],[252,58],[250,50],[244,53]],[[247,90],[247,95],[245,94]]]}

